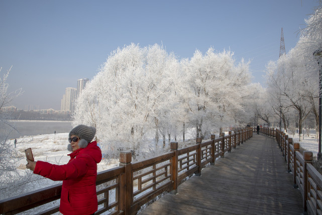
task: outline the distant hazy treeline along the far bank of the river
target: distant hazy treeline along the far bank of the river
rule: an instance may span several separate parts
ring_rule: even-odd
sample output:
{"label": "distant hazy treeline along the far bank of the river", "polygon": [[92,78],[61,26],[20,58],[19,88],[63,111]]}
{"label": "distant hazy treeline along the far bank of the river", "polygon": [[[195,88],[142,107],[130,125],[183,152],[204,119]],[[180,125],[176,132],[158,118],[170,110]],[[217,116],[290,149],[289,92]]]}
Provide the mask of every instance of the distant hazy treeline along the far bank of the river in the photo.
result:
{"label": "distant hazy treeline along the far bank of the river", "polygon": [[31,111],[19,111],[10,114],[12,120],[56,120],[56,121],[70,121],[72,120],[69,114],[41,114]]}

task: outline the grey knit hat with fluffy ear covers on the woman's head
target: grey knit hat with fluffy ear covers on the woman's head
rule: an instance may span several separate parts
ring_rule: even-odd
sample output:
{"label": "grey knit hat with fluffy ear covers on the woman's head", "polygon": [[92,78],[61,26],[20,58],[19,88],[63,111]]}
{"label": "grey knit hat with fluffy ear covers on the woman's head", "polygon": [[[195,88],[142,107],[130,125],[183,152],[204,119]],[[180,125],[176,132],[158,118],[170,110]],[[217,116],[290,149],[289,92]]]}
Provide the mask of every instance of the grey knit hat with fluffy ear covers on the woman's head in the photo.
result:
{"label": "grey knit hat with fluffy ear covers on the woman's head", "polygon": [[[79,137],[80,140],[78,142],[78,146],[80,148],[86,148],[88,143],[90,143],[93,140],[95,133],[96,133],[96,129],[94,127],[79,125],[79,126],[76,126],[75,128],[73,128],[69,132],[69,137],[71,137],[72,135]],[[71,146],[69,146],[69,145],[68,145],[67,149],[69,151],[73,151]]]}

